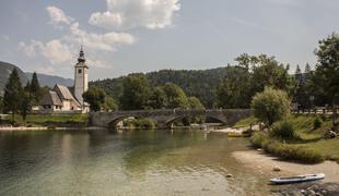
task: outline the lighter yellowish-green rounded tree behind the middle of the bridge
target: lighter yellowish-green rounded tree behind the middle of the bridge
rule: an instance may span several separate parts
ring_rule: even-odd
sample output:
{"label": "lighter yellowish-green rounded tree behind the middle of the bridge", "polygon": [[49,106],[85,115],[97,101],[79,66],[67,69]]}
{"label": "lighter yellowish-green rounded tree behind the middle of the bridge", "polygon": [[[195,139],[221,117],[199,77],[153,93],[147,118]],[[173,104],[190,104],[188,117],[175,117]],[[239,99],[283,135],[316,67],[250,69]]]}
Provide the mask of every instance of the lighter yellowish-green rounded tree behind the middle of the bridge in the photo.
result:
{"label": "lighter yellowish-green rounded tree behind the middle of the bridge", "polygon": [[166,83],[162,89],[166,94],[166,108],[167,109],[175,109],[182,108],[187,109],[188,100],[185,91],[177,85],[173,83]]}

